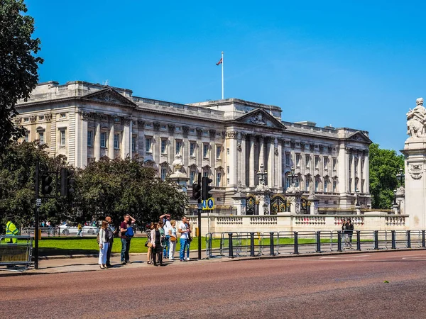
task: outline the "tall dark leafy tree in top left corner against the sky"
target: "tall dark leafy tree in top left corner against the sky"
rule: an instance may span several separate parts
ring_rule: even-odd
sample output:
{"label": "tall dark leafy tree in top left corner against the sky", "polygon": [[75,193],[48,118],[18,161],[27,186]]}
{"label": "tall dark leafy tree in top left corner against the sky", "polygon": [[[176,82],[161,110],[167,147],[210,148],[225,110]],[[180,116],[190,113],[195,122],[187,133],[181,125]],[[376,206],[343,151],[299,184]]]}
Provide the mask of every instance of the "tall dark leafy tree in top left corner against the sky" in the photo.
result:
{"label": "tall dark leafy tree in top left corner against the sky", "polygon": [[26,13],[23,0],[0,0],[0,152],[24,129],[16,127],[18,99],[26,101],[38,82],[40,40],[32,39],[34,19]]}

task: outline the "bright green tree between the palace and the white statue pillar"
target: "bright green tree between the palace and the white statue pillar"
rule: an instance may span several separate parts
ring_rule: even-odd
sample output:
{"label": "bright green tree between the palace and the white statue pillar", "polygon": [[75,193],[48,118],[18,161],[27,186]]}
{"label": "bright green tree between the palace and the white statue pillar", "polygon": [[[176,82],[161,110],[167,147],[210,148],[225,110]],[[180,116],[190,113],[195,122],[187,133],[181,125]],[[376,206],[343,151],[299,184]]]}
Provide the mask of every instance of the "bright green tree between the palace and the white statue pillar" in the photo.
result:
{"label": "bright green tree between the palace and the white statue pillar", "polygon": [[398,187],[396,174],[404,168],[404,155],[370,145],[370,193],[372,208],[388,209],[393,204],[393,190]]}

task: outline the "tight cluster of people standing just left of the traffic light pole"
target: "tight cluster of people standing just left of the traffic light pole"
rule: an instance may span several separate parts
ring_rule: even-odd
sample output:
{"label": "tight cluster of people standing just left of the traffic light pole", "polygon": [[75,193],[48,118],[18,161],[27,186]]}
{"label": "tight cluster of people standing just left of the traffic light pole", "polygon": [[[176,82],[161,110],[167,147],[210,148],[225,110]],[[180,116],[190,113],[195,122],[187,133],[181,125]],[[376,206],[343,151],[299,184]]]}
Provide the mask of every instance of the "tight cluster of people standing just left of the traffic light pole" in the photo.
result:
{"label": "tight cluster of people standing just left of the traffic light pole", "polygon": [[[191,227],[189,220],[184,216],[176,228],[176,220],[170,220],[169,214],[160,216],[157,223],[148,225],[146,231],[147,262],[154,266],[162,266],[164,259],[175,261],[176,242],[180,235],[179,260],[190,260]],[[186,257],[185,257],[186,256]]]}

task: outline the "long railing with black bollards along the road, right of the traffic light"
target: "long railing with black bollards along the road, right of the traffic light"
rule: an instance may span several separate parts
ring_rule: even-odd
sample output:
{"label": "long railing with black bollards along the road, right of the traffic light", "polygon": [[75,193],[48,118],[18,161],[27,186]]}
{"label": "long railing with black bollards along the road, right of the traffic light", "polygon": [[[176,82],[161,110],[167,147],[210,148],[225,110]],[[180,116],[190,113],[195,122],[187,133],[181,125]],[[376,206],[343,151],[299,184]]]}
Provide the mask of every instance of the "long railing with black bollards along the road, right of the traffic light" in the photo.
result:
{"label": "long railing with black bollards along the road, right of the traffic light", "polygon": [[[213,248],[214,240],[220,240],[219,248]],[[340,230],[209,233],[206,241],[207,257],[214,257],[214,253],[219,253],[221,256],[229,258],[426,248],[425,230],[355,230],[351,236]]]}

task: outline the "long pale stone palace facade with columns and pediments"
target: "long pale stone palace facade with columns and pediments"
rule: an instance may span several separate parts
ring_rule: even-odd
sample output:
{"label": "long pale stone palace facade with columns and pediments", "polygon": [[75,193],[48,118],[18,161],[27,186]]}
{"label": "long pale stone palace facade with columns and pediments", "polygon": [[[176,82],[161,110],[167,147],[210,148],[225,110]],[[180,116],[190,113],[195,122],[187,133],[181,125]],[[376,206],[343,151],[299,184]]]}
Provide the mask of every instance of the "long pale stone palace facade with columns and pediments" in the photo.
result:
{"label": "long pale stone palace facade with columns and pediments", "polygon": [[285,122],[278,106],[241,99],[180,104],[133,96],[130,89],[50,81],[17,109],[25,139],[47,144],[52,156],[65,155],[75,167],[131,157],[162,179],[179,159],[188,195],[202,173],[213,180],[219,208],[232,211],[237,193],[256,191],[261,169],[271,196],[284,198],[293,184],[302,196],[315,193],[320,210],[371,205],[368,132]]}

